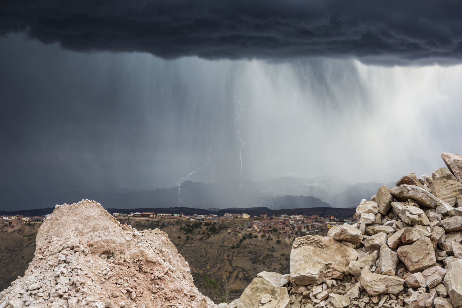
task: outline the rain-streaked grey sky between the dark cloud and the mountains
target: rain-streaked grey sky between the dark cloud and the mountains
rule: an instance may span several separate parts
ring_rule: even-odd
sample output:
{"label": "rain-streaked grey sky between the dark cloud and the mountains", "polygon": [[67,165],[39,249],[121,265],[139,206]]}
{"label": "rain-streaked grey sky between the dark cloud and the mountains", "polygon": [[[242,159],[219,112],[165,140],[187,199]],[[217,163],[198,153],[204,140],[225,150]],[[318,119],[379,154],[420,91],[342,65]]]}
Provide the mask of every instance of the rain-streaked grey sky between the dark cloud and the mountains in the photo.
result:
{"label": "rain-streaked grey sky between the dark cloud and the mountains", "polygon": [[[1,185],[172,187],[339,175],[395,181],[461,153],[462,66],[352,58],[163,60],[0,38]],[[228,73],[230,79],[228,79]]]}

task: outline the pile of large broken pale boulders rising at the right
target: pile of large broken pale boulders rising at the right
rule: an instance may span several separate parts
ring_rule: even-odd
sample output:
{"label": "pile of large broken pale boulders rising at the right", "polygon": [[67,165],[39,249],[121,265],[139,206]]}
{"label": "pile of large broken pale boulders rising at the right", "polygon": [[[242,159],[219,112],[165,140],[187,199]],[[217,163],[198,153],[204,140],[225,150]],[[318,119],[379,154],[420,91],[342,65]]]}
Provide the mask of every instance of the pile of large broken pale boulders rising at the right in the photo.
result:
{"label": "pile of large broken pale boulders rising at the right", "polygon": [[260,273],[220,308],[461,307],[462,156],[442,158],[363,199],[358,223],[296,238],[290,276]]}

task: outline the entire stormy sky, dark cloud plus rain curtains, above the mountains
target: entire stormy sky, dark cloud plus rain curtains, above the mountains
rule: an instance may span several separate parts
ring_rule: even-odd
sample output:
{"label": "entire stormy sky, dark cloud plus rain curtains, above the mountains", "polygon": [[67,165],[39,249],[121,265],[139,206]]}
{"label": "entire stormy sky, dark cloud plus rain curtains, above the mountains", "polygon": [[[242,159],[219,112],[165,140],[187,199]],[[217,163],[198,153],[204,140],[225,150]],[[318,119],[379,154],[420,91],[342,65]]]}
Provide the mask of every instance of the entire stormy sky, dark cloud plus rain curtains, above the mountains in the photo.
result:
{"label": "entire stormy sky, dark cloud plus rain curtains, above the mountains", "polygon": [[236,179],[239,102],[252,181],[388,183],[462,154],[456,2],[90,2],[0,5],[0,185],[172,187],[211,127],[189,179]]}

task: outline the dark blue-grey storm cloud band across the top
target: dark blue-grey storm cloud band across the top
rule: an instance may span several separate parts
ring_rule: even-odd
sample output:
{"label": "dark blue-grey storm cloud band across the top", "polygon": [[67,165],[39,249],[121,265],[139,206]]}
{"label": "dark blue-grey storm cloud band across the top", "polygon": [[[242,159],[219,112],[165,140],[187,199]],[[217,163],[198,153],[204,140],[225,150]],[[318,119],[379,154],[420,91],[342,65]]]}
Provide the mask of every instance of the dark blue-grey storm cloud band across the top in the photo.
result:
{"label": "dark blue-grey storm cloud band across the top", "polygon": [[170,59],[357,57],[450,64],[462,54],[460,1],[3,0],[0,31],[79,51]]}

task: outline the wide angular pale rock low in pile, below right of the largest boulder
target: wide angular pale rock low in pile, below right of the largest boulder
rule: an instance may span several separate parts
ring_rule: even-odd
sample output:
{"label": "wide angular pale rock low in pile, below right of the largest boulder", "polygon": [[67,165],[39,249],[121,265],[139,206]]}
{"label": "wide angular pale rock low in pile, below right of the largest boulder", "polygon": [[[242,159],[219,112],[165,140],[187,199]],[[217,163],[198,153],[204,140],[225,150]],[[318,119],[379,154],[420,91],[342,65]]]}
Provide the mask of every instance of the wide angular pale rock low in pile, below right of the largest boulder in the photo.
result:
{"label": "wide angular pale rock low in pile, below right of the largest boulder", "polygon": [[361,286],[371,296],[379,294],[398,294],[403,290],[404,280],[395,276],[372,273],[368,268],[361,272]]}

